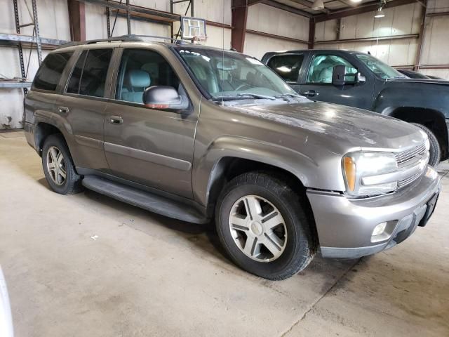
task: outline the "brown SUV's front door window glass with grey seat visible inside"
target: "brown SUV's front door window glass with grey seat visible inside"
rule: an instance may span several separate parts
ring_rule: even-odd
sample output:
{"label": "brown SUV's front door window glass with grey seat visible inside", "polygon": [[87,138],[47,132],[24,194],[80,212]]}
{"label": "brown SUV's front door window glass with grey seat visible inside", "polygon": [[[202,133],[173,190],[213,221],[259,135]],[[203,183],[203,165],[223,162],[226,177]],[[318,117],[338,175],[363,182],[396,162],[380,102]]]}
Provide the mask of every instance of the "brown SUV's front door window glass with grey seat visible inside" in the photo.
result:
{"label": "brown SUV's front door window glass with grey seat visible inside", "polygon": [[145,49],[126,49],[121,57],[116,84],[116,100],[143,103],[149,86],[180,88],[180,80],[170,64],[159,53]]}

